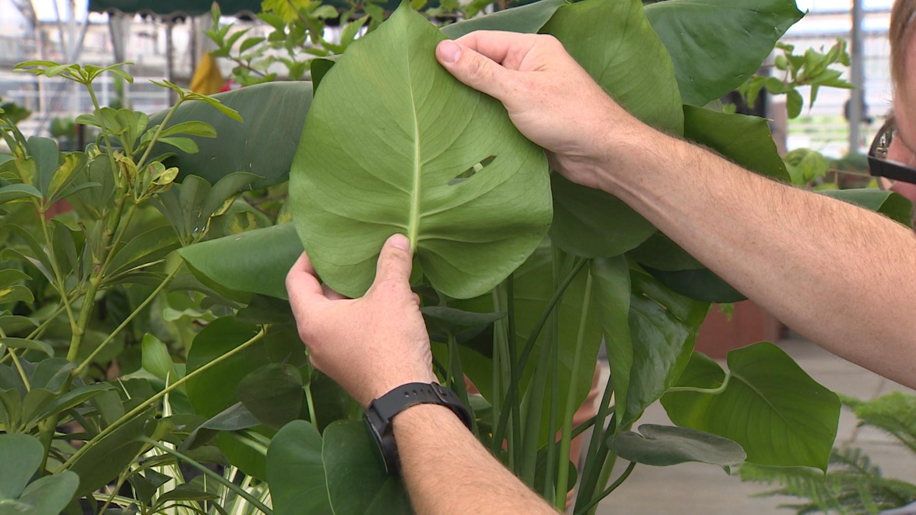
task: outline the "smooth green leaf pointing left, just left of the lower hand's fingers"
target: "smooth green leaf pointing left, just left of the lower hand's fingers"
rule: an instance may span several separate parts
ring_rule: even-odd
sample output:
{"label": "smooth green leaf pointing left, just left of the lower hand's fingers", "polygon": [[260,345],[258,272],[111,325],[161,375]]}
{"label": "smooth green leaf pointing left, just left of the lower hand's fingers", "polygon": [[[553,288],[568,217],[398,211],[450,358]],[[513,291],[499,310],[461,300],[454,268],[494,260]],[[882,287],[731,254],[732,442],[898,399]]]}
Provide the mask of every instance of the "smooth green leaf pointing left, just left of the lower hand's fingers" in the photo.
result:
{"label": "smooth green leaf pointing left, just left of the lower hand's fingers", "polygon": [[[291,223],[202,241],[179,251],[195,274],[230,290],[287,298],[286,274],[302,253]],[[233,256],[233,259],[226,259]]]}

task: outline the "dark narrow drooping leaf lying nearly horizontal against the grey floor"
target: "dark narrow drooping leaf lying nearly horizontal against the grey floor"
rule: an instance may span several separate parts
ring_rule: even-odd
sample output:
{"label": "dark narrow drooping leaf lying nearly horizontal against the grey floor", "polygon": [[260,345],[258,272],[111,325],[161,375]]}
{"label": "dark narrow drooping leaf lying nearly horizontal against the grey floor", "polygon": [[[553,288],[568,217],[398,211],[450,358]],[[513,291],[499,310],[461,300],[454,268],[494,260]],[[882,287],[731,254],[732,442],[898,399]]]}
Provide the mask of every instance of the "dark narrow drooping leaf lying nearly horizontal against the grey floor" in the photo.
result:
{"label": "dark narrow drooping leaf lying nearly horizontal against the grey floor", "polygon": [[642,424],[639,433],[621,433],[609,438],[607,446],[626,460],[655,467],[699,461],[718,465],[727,472],[728,467],[747,457],[741,445],[728,438],[668,425]]}

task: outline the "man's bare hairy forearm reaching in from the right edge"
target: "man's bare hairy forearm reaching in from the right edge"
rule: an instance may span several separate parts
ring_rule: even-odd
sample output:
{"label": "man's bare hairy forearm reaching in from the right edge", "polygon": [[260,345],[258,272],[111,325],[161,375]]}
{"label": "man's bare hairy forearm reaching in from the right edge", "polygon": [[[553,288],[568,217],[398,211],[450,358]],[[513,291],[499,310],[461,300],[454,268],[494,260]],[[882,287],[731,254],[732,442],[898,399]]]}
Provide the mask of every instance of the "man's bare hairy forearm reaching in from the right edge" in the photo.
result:
{"label": "man's bare hairy forearm reaching in from the right edge", "polygon": [[641,141],[602,188],[802,335],[916,387],[910,229],[658,132]]}

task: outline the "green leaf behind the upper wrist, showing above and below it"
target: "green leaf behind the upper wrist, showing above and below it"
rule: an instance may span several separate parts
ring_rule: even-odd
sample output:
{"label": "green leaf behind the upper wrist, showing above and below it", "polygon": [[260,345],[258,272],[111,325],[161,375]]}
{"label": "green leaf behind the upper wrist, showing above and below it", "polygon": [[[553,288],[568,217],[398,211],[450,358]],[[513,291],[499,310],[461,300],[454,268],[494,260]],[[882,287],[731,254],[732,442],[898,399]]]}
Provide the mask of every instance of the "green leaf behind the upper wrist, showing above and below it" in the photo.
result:
{"label": "green leaf behind the upper wrist, showing above and below it", "polygon": [[[585,0],[557,10],[543,27],[627,111],[645,123],[680,134],[681,95],[671,58],[639,0]],[[583,34],[593,37],[583,38]],[[551,176],[551,239],[567,252],[615,256],[636,247],[655,228],[622,200]]]}

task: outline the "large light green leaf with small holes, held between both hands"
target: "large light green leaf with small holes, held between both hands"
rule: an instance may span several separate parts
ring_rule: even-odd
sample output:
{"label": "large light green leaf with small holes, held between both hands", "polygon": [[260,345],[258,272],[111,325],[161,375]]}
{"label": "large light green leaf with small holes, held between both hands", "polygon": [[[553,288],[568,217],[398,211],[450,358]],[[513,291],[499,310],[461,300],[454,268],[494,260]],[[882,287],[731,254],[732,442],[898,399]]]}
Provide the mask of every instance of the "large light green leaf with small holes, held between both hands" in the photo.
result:
{"label": "large light green leaf with small holes, held between both hands", "polygon": [[365,293],[395,232],[437,289],[481,295],[550,224],[544,153],[502,104],[442,69],[442,39],[402,4],[316,93],[290,177],[293,221],[315,270],[344,295]]}

